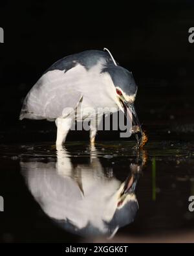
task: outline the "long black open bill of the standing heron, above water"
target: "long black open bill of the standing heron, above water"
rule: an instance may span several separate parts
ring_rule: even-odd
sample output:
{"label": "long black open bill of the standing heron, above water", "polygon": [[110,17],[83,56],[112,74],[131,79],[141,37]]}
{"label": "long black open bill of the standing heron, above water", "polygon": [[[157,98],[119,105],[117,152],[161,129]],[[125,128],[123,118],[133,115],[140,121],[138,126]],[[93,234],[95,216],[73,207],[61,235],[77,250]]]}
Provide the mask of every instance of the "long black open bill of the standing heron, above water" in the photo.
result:
{"label": "long black open bill of the standing heron, above water", "polygon": [[[135,127],[135,130],[133,131],[133,133],[135,134],[138,146],[140,146],[142,145],[143,132],[142,132],[142,126],[136,114],[135,106],[134,104],[129,103],[127,101],[124,101],[124,104],[125,104],[125,107],[128,108],[132,113],[132,124],[133,124],[133,127]],[[140,134],[140,137],[139,137],[139,134]]]}

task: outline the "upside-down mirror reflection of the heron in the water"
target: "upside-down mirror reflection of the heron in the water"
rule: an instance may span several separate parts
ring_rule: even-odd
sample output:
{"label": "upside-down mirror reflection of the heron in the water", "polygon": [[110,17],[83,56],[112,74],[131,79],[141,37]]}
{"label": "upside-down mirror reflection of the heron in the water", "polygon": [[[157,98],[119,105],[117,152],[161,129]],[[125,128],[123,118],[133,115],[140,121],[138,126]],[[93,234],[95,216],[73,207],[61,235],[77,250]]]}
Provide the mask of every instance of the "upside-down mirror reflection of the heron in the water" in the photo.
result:
{"label": "upside-down mirror reflection of the heron in the water", "polygon": [[113,235],[135,218],[141,166],[131,164],[122,183],[105,176],[95,148],[90,160],[73,167],[67,150],[60,148],[56,163],[21,162],[21,169],[36,201],[60,226],[80,235]]}

